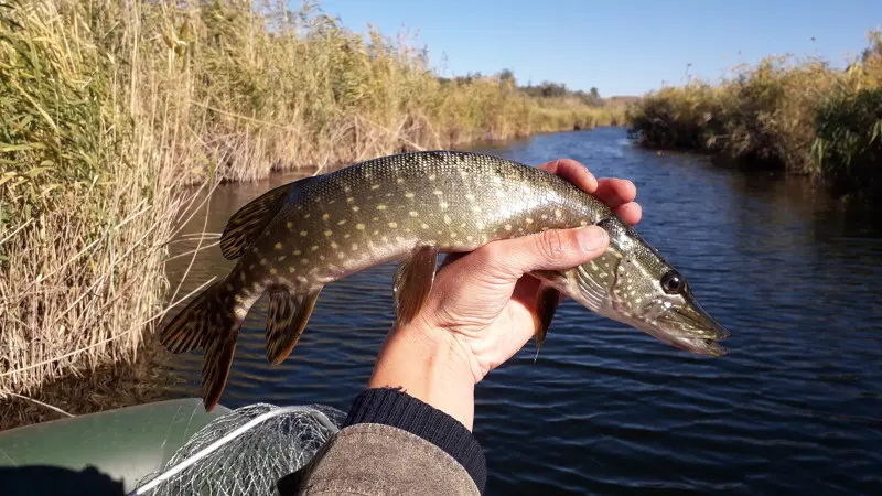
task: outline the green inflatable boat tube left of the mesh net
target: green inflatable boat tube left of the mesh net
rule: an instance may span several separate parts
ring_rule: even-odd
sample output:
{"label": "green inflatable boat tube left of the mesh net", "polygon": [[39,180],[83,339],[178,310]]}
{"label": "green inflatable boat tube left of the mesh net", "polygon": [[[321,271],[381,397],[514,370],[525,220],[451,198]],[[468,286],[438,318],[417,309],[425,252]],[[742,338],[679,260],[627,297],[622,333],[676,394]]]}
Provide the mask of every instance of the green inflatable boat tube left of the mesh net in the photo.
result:
{"label": "green inflatable boat tube left of the mesh net", "polygon": [[125,496],[229,411],[185,398],[0,432],[0,495]]}

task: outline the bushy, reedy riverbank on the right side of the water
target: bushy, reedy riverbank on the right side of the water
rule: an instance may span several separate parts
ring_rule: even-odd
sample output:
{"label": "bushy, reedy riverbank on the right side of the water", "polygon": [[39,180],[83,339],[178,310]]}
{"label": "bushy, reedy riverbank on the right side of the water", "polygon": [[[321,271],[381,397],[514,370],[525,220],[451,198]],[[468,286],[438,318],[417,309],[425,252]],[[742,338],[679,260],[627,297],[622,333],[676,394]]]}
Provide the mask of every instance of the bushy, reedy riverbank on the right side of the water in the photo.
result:
{"label": "bushy, reedy riverbank on the right side of the water", "polygon": [[846,71],[766,57],[719,84],[693,80],[644,96],[631,132],[652,149],[711,153],[820,180],[835,196],[882,192],[882,31]]}

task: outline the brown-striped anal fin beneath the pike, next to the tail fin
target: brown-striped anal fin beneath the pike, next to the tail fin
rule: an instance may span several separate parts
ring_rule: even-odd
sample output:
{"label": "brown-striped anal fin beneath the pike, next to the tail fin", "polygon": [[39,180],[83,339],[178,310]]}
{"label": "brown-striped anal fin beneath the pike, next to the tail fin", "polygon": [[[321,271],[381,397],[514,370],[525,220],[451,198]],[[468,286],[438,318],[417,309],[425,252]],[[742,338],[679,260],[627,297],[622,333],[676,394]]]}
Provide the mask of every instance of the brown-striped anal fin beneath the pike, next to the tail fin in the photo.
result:
{"label": "brown-striped anal fin beneath the pike, next to the tail fin", "polygon": [[270,364],[281,364],[294,349],[321,292],[322,288],[303,293],[278,288],[269,291],[267,360]]}

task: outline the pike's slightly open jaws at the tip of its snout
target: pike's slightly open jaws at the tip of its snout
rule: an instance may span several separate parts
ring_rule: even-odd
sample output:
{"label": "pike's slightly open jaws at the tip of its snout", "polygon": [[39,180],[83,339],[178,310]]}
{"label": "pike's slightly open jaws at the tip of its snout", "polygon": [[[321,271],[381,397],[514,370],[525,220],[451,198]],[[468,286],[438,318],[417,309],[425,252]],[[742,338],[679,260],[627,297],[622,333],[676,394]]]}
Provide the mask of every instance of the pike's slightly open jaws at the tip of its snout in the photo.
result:
{"label": "pike's slightly open jaws at the tip of its snout", "polygon": [[684,306],[664,309],[656,319],[657,325],[643,323],[641,330],[671,346],[713,357],[723,357],[729,351],[717,343],[732,335],[713,319],[695,299]]}

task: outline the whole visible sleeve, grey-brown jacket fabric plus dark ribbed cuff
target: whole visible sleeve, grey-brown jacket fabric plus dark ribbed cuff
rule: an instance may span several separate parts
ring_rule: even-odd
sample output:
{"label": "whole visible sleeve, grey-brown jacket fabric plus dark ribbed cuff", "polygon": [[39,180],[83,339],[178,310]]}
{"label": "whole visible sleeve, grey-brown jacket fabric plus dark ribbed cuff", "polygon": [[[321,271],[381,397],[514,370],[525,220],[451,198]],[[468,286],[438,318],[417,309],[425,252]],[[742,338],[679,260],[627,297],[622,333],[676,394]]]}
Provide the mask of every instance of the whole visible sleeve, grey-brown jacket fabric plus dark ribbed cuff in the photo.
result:
{"label": "whole visible sleeve, grey-brown jacket fabric plus dark ribbed cuff", "polygon": [[401,390],[363,391],[342,428],[306,466],[279,482],[280,494],[484,492],[486,460],[470,430]]}

